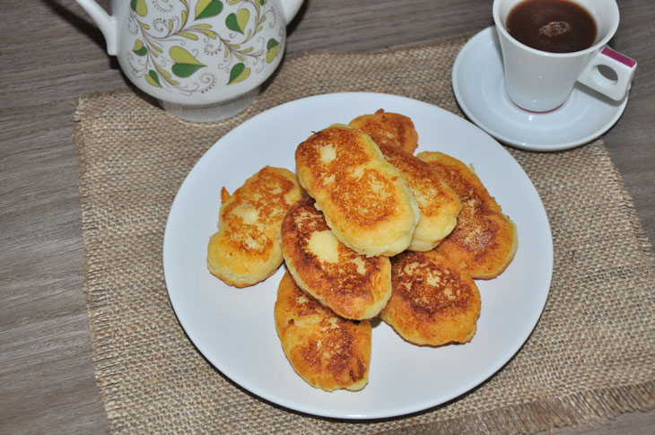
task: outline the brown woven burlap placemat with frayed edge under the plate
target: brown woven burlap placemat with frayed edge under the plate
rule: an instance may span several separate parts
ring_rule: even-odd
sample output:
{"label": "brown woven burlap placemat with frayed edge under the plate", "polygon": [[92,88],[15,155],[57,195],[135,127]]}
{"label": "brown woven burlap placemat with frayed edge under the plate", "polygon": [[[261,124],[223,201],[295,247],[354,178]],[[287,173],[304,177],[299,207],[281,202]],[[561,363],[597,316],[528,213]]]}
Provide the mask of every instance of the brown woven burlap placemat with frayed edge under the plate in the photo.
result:
{"label": "brown woven burlap placemat with frayed edge under the plate", "polygon": [[208,125],[170,117],[131,90],[79,100],[85,291],[113,431],[524,432],[655,407],[655,260],[601,141],[568,152],[510,150],[552,225],[551,292],[516,357],[449,404],[378,422],[294,413],[223,377],[179,326],[163,278],[162,236],[197,159],[243,120],[319,93],[394,93],[460,114],[450,69],[464,41],[290,57],[245,113]]}

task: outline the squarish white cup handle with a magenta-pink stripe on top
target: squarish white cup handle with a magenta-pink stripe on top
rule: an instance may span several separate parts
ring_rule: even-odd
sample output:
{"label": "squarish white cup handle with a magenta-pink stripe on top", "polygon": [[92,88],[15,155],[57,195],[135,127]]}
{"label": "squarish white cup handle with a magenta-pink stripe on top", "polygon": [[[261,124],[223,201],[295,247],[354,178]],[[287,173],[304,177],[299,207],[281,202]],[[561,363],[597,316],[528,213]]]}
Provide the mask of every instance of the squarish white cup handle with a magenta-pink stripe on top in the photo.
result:
{"label": "squarish white cup handle with a magenta-pink stripe on top", "polygon": [[[616,80],[601,74],[598,71],[598,66],[601,65],[607,66],[614,71]],[[607,95],[612,100],[620,101],[624,99],[625,93],[630,90],[636,69],[637,62],[634,59],[606,46],[585,66],[578,77],[578,82]]]}

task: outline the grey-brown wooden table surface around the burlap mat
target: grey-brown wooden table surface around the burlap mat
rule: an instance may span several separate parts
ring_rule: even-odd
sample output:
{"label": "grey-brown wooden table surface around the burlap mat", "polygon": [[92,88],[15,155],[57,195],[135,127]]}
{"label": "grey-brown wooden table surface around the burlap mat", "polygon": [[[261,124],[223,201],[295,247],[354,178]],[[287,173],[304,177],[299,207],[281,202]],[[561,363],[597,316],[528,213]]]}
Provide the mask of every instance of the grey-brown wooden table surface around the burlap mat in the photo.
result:
{"label": "grey-brown wooden table surface around the burlap mat", "polygon": [[[100,4],[109,10],[109,0]],[[491,4],[305,0],[289,27],[287,56],[398,48],[476,32],[493,23]],[[640,65],[627,109],[604,139],[652,243],[655,2],[620,0],[619,8],[612,45]],[[126,82],[74,0],[2,0],[0,16],[0,432],[106,432],[83,294],[73,102]],[[655,411],[555,432],[653,431]]]}

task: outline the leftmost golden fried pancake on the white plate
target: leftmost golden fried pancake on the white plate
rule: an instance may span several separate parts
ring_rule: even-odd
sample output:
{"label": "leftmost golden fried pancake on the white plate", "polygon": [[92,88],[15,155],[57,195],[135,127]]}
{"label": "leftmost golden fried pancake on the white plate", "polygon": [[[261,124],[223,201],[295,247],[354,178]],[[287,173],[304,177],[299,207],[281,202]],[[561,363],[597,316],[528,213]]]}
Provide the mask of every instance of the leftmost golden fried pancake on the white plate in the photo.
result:
{"label": "leftmost golden fried pancake on the white plate", "polygon": [[225,283],[245,287],[282,264],[284,215],[303,195],[290,170],[266,166],[230,196],[223,187],[219,231],[209,239],[207,267]]}

